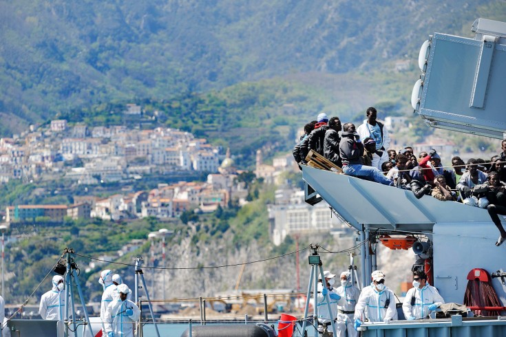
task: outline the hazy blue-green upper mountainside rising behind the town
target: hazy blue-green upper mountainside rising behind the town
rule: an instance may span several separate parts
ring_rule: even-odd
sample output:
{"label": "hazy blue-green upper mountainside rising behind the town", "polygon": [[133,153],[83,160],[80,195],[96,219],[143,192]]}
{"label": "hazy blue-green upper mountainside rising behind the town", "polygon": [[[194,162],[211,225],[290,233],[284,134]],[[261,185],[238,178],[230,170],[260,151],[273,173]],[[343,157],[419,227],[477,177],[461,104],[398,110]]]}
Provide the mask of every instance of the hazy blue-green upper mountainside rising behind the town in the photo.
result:
{"label": "hazy blue-green upper mountainside rising behind the town", "polygon": [[504,1],[485,0],[402,6],[20,0],[0,6],[0,113],[8,116],[3,134],[114,100],[166,100],[311,72],[368,74],[413,59],[434,31],[470,36],[477,17],[506,19]]}

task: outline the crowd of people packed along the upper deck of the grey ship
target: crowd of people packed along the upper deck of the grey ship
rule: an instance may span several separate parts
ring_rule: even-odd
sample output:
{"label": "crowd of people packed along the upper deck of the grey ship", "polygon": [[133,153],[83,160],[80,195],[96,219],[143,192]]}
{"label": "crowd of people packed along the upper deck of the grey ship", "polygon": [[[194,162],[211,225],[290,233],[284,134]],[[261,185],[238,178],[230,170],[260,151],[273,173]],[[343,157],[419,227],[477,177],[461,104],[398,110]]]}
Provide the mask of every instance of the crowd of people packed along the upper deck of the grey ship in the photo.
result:
{"label": "crowd of people packed along the upper deck of the grey ship", "polygon": [[418,156],[411,146],[399,153],[389,149],[388,129],[377,121],[376,109],[368,108],[366,116],[355,128],[352,123],[341,127],[338,117],[329,119],[320,113],[317,120],[304,126],[305,134],[293,149],[295,160],[306,164],[306,155],[313,150],[346,175],[407,189],[418,199],[432,195],[441,201],[486,208],[500,232],[496,246],[506,240],[506,230],[498,217],[506,215],[506,140],[501,143],[503,152],[488,162],[472,158],[466,165],[461,157],[452,157],[453,169],[447,169],[434,149]]}

